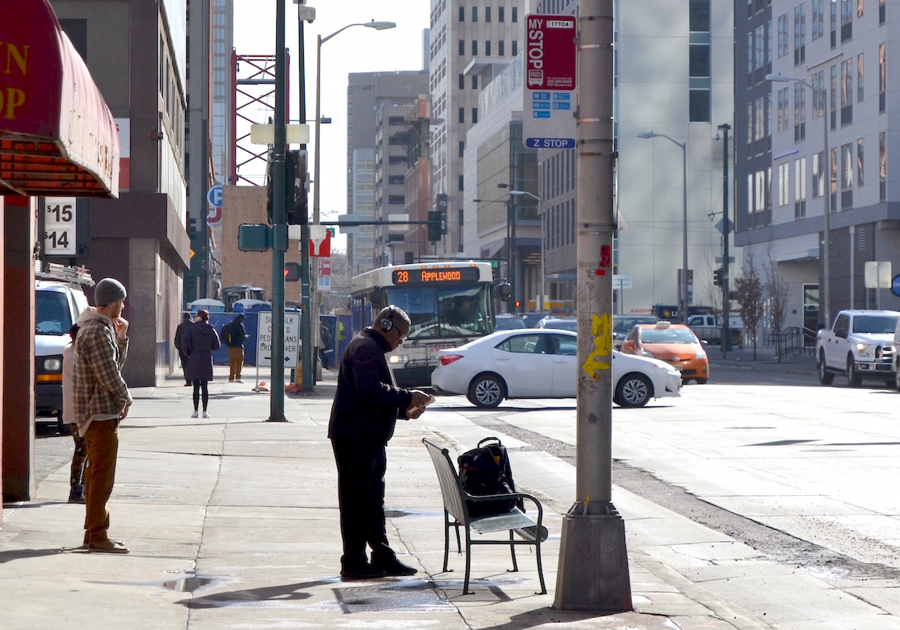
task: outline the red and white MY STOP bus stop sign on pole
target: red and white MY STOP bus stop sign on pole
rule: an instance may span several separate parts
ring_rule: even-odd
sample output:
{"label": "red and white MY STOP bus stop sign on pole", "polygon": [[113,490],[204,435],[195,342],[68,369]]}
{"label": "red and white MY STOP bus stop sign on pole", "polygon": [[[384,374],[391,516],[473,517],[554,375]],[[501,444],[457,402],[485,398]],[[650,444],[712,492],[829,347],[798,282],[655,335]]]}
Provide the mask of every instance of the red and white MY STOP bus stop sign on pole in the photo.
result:
{"label": "red and white MY STOP bus stop sign on pole", "polygon": [[528,148],[575,147],[575,18],[526,18],[525,116]]}

